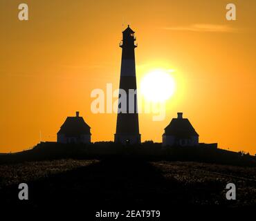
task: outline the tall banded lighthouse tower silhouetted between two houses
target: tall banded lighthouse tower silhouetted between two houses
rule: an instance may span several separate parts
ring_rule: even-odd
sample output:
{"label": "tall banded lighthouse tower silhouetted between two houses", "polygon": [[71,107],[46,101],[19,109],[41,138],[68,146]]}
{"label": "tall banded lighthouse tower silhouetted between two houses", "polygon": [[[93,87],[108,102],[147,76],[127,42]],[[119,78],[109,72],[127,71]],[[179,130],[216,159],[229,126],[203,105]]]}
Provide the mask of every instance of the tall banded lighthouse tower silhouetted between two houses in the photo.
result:
{"label": "tall banded lighthouse tower silhouetted between two houses", "polygon": [[[116,122],[115,142],[120,144],[140,143],[137,95],[135,94],[133,96],[134,99],[129,97],[129,89],[137,89],[134,55],[134,48],[137,46],[134,44],[134,41],[136,41],[136,38],[134,37],[134,31],[131,30],[131,28],[128,26],[122,32],[122,42],[120,44],[120,47],[122,48],[122,63],[119,88],[125,90],[127,95],[127,105],[125,108],[126,111],[123,111],[126,113],[122,113],[122,111],[118,113],[118,119]],[[119,104],[122,105],[122,102],[119,102]],[[120,110],[123,110],[124,108],[121,108],[120,105]]]}

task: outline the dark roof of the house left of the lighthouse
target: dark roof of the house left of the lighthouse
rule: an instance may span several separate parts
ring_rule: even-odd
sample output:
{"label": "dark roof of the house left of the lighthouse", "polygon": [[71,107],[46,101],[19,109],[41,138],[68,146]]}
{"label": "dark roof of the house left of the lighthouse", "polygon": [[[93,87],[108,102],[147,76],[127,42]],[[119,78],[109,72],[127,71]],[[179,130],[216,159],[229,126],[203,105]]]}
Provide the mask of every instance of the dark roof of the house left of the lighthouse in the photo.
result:
{"label": "dark roof of the house left of the lighthouse", "polygon": [[64,134],[67,137],[91,135],[90,128],[91,127],[84,122],[84,118],[82,117],[66,117],[58,133]]}

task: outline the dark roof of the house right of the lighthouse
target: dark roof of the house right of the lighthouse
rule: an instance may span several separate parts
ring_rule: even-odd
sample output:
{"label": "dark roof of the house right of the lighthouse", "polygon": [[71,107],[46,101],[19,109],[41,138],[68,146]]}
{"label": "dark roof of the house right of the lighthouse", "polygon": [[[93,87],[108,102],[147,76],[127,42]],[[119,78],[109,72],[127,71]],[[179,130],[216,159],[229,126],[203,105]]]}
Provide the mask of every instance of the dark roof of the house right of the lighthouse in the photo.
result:
{"label": "dark roof of the house right of the lighthouse", "polygon": [[173,118],[170,124],[165,128],[165,135],[173,135],[175,137],[199,136],[194,130],[188,118]]}

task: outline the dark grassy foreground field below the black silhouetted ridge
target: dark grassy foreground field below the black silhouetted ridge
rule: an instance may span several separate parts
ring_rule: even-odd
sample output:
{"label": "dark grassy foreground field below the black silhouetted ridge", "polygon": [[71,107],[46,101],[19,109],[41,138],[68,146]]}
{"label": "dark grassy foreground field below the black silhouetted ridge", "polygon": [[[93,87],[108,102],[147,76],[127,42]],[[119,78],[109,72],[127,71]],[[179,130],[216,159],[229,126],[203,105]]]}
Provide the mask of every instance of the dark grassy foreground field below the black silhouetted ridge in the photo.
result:
{"label": "dark grassy foreground field below the black silhouetted ridge", "polygon": [[[18,184],[29,200],[18,200]],[[226,184],[237,200],[226,200]],[[1,206],[26,209],[174,209],[179,206],[256,205],[256,168],[196,162],[53,160],[0,165]],[[3,208],[3,207],[1,207]]]}

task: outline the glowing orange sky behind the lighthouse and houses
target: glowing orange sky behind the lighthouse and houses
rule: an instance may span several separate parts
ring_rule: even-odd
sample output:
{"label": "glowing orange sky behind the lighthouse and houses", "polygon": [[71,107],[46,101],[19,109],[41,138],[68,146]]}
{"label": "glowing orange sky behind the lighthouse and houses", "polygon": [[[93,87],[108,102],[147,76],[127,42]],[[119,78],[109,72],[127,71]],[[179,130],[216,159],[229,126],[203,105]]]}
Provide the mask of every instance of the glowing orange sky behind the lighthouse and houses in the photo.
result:
{"label": "glowing orange sky behind the lighthouse and houses", "polygon": [[[28,3],[29,21],[17,18]],[[161,142],[183,112],[200,142],[256,153],[256,2],[0,1],[0,152],[55,141],[67,116],[80,111],[92,141],[113,140],[116,114],[91,113],[91,90],[118,88],[122,23],[136,32],[137,82],[154,68],[174,69],[174,96],[161,122],[140,114],[142,140]]]}

